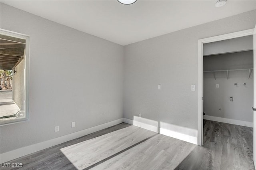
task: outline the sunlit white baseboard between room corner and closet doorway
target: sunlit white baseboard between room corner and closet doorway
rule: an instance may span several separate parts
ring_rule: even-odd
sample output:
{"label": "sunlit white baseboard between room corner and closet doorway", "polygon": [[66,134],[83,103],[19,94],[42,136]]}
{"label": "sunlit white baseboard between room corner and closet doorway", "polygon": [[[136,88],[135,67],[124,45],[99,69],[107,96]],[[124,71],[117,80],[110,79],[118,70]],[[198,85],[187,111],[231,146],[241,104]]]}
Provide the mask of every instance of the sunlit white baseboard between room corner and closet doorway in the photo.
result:
{"label": "sunlit white baseboard between room corner and closet doorway", "polygon": [[[152,121],[150,120],[150,123],[145,123],[145,119],[142,121],[140,121],[140,119],[144,119],[144,118],[136,117],[136,119],[135,119],[136,121],[124,118],[124,123],[128,123],[130,125],[134,125],[134,126],[141,127],[141,128],[145,128],[147,130],[151,130],[153,132],[158,132],[160,134],[164,134],[164,135],[170,136],[172,138],[184,140],[186,142],[190,142],[193,144],[198,144],[198,142],[197,142],[198,130],[196,130],[196,129],[180,127],[177,125],[170,125],[168,123],[162,123],[162,125],[160,125],[160,127],[159,127],[158,122],[152,123]],[[181,132],[186,132],[186,134],[181,133]]]}

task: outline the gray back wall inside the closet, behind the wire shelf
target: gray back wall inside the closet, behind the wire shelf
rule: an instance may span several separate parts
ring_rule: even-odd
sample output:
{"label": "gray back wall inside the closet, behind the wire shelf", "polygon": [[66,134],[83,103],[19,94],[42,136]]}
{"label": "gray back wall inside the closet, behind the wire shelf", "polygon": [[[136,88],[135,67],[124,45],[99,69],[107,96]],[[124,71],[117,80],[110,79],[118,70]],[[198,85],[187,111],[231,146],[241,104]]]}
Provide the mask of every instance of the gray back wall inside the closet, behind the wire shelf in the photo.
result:
{"label": "gray back wall inside the closet, behind the wire shelf", "polygon": [[[253,68],[253,51],[204,57],[205,70]],[[204,73],[204,112],[206,115],[252,122],[253,73],[249,71]],[[234,83],[238,85],[235,86]],[[246,83],[246,85],[242,85]],[[219,88],[216,88],[219,84]],[[234,97],[230,102],[230,97]],[[221,109],[221,110],[219,110]]]}

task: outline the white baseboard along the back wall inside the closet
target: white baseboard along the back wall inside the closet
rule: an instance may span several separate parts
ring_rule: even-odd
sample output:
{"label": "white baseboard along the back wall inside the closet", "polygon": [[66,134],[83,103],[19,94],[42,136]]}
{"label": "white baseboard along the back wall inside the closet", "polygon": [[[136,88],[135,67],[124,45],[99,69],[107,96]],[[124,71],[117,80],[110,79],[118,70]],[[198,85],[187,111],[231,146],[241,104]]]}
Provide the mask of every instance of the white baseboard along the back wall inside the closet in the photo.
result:
{"label": "white baseboard along the back wall inside the closet", "polygon": [[208,116],[208,115],[204,115],[204,119],[209,120],[209,121],[229,123],[229,124],[240,125],[240,126],[245,126],[245,127],[253,127],[252,122],[239,121],[239,120],[235,120],[235,119],[227,119],[227,118]]}

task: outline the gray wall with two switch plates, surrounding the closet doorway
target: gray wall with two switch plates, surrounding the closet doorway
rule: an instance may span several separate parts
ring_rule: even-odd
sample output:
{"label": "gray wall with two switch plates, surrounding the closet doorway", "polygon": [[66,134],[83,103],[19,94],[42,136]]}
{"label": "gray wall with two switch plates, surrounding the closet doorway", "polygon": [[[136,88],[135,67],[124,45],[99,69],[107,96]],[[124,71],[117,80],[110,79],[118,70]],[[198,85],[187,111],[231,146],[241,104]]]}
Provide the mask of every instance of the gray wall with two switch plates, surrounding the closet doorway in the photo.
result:
{"label": "gray wall with two switch plates, surrounding the closet doorway", "polygon": [[[198,39],[254,28],[256,10],[124,47],[124,117],[198,127]],[[157,85],[162,89],[158,90]],[[196,91],[191,91],[191,85]]]}

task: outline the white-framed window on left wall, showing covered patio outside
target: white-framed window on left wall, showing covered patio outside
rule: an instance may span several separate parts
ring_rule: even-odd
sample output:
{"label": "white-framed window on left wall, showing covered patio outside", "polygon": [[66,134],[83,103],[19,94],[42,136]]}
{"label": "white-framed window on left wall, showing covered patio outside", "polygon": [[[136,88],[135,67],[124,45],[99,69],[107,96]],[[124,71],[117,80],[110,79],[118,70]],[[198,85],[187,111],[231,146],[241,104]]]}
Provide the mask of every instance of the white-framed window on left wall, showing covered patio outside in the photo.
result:
{"label": "white-framed window on left wall, showing covered patio outside", "polygon": [[29,119],[29,36],[0,29],[0,125]]}

